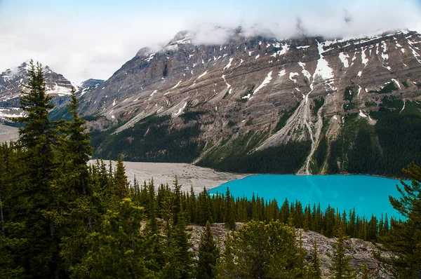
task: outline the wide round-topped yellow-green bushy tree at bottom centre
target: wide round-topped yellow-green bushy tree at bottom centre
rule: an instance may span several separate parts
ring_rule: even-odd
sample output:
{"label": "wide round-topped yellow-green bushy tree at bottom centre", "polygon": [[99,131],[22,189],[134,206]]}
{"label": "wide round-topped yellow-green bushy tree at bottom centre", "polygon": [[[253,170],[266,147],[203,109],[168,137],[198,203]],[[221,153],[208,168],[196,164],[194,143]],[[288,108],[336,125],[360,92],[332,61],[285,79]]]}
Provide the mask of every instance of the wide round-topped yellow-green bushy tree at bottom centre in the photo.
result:
{"label": "wide round-topped yellow-green bushy tree at bottom centre", "polygon": [[248,222],[225,240],[215,278],[304,278],[305,251],[280,222]]}

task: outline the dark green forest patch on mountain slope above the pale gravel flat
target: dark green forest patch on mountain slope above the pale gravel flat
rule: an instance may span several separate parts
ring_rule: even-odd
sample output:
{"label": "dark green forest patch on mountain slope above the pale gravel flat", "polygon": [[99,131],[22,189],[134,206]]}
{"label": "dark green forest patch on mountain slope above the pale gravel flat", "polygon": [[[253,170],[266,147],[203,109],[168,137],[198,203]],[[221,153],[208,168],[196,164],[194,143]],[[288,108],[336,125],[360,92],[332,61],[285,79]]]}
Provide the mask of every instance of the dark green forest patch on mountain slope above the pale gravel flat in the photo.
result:
{"label": "dark green forest patch on mountain slope above the pale gravel flat", "polygon": [[[127,161],[189,163],[199,156],[202,142],[199,124],[177,130],[169,127],[171,116],[149,116],[105,138],[95,156]],[[94,137],[94,135],[93,135]],[[94,139],[93,139],[94,140]]]}

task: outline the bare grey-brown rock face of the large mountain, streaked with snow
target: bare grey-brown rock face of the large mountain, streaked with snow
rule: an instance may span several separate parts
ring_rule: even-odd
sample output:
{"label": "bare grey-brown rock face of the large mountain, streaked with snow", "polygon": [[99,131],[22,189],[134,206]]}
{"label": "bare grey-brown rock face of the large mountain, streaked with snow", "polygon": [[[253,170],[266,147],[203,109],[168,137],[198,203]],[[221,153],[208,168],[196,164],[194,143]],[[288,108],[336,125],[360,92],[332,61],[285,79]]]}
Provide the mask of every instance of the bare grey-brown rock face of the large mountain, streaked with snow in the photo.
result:
{"label": "bare grey-brown rock face of the large mountain, streaked with snow", "polygon": [[[310,173],[321,138],[333,142],[347,116],[375,125],[370,111],[378,111],[386,97],[417,100],[420,47],[416,32],[333,41],[279,41],[236,33],[221,46],[195,45],[194,36],[180,32],[159,52],[141,49],[109,80],[83,95],[81,113],[100,116],[107,127],[114,127],[114,135],[127,134],[126,143],[120,143],[128,147],[138,136],[127,130],[136,130],[147,116],[171,116],[168,129],[199,131],[194,135],[196,161],[211,158],[213,164],[215,156],[221,158],[215,151],[246,135],[255,135],[246,140],[247,154],[305,142],[308,150],[299,172]],[[98,154],[114,156],[105,145]],[[119,153],[145,160],[125,149]]]}

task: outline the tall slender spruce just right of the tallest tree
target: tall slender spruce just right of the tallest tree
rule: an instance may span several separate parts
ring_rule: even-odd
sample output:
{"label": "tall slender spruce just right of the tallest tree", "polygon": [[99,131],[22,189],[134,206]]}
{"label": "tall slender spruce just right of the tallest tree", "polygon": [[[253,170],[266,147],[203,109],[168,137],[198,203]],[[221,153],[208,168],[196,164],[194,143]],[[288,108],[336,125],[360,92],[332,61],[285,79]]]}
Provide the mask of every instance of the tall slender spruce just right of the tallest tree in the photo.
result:
{"label": "tall slender spruce just right of the tallest tree", "polygon": [[55,219],[55,224],[62,231],[60,256],[65,259],[65,268],[70,270],[80,263],[86,252],[86,236],[93,230],[93,219],[98,219],[99,214],[93,206],[94,193],[87,165],[92,147],[89,135],[84,132],[86,121],[77,112],[78,100],[74,88],[67,107],[72,120],[60,128],[60,217]]}

